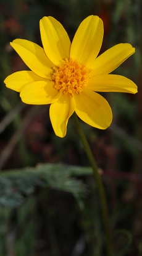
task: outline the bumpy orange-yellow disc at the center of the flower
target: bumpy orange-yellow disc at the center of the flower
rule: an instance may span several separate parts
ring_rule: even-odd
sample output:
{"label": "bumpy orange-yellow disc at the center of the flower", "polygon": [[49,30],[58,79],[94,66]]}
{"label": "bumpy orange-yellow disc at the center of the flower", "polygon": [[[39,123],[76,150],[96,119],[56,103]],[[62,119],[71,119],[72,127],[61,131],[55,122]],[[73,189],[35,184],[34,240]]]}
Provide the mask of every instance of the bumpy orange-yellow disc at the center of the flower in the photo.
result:
{"label": "bumpy orange-yellow disc at the center of the flower", "polygon": [[54,88],[65,95],[80,94],[90,79],[91,70],[77,60],[65,58],[61,65],[54,67],[54,70],[52,74],[52,80],[55,81]]}

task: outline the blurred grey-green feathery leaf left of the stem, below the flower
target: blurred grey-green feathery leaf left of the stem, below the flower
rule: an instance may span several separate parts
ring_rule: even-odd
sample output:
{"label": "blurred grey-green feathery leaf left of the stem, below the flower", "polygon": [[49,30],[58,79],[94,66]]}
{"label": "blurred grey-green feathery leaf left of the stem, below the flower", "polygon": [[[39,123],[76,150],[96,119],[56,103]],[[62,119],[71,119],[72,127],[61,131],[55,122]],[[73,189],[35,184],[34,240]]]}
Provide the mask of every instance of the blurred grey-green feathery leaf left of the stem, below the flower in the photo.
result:
{"label": "blurred grey-green feathery leaf left of the stem, below the flower", "polygon": [[34,193],[39,186],[72,193],[75,198],[85,194],[85,185],[75,178],[90,175],[91,168],[62,164],[46,164],[36,168],[4,171],[0,175],[0,207],[17,207],[25,196]]}

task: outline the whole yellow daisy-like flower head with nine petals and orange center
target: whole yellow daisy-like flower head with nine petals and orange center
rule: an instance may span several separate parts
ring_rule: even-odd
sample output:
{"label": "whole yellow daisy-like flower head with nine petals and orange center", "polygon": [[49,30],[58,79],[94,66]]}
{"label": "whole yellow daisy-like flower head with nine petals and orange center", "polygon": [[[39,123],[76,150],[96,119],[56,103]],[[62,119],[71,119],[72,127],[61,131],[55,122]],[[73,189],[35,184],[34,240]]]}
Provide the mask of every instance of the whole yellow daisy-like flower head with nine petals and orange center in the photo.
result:
{"label": "whole yellow daisy-like flower head with nine petals and orange center", "polygon": [[119,43],[98,56],[103,23],[89,16],[77,29],[72,43],[60,22],[53,17],[40,21],[43,48],[15,39],[10,45],[31,71],[18,71],[4,83],[20,92],[27,104],[51,104],[49,114],[54,132],[64,137],[67,122],[75,111],[90,126],[106,129],[112,122],[111,107],[96,92],[136,93],[133,81],[108,75],[135,52],[129,43]]}

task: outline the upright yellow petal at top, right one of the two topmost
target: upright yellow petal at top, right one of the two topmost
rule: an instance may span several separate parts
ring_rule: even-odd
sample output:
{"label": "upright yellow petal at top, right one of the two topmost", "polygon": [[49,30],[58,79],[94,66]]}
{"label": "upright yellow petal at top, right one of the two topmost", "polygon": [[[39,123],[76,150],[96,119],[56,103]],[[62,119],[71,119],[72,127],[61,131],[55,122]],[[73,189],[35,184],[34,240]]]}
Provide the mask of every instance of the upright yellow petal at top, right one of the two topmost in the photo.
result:
{"label": "upright yellow petal at top, right one of the two topmost", "polygon": [[102,20],[98,16],[88,16],[73,38],[70,58],[91,68],[101,48],[103,34]]}

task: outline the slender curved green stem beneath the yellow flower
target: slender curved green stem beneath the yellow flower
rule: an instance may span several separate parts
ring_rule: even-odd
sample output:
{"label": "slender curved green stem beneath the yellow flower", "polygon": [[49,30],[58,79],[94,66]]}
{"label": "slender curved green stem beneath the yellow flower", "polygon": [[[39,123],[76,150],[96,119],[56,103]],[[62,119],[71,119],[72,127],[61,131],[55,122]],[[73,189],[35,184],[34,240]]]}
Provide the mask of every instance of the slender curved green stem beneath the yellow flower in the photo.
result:
{"label": "slender curved green stem beneath the yellow flower", "polygon": [[102,219],[104,222],[104,232],[105,232],[105,237],[106,237],[106,252],[107,252],[107,256],[112,256],[111,232],[109,229],[109,216],[108,216],[107,200],[106,200],[106,194],[104,191],[104,186],[102,184],[101,176],[98,173],[98,167],[96,165],[93,154],[91,152],[90,145],[88,144],[88,141],[86,140],[83,130],[81,129],[77,114],[74,113],[73,118],[75,121],[75,125],[77,127],[78,134],[80,135],[80,139],[81,139],[84,149],[86,151],[86,155],[90,161],[91,167],[93,168],[94,178],[96,180],[96,184],[98,186],[98,191],[99,191],[99,198],[100,198],[100,204],[101,204],[101,210],[102,210]]}

